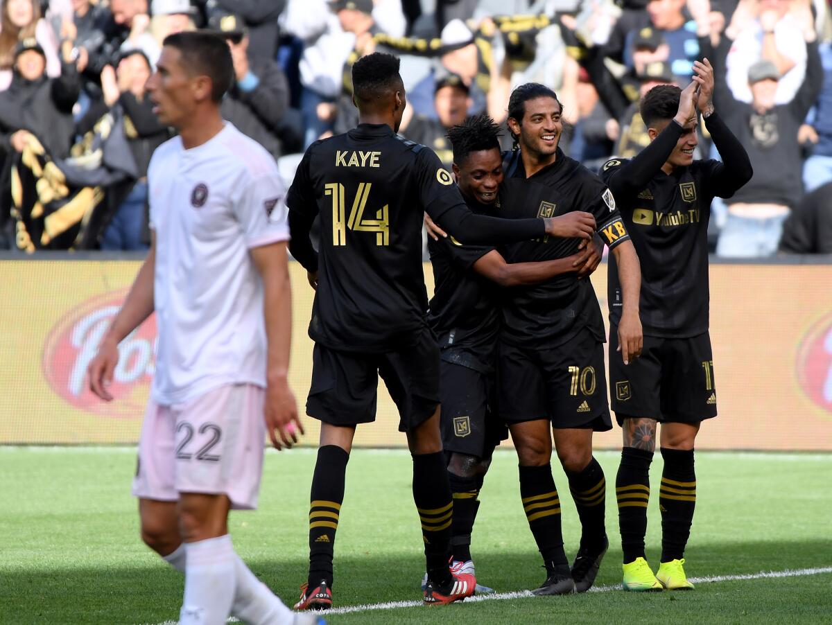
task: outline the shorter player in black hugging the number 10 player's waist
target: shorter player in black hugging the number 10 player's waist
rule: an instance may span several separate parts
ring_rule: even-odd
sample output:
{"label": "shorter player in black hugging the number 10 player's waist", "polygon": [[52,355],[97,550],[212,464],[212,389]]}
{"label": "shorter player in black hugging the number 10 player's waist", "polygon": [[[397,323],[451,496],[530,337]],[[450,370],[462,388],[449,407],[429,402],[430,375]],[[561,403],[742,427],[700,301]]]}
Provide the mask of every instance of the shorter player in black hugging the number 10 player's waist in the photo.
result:
{"label": "shorter player in black hugging the number 10 player's waist", "polygon": [[[453,174],[474,213],[499,216],[509,204],[526,200],[522,181],[502,184],[499,135],[499,126],[488,115],[468,118],[448,130]],[[562,237],[584,239],[582,249],[541,263],[508,264],[493,246],[463,245],[441,232],[428,239],[436,283],[428,322],[442,354],[439,396],[442,444],[453,493],[452,559],[453,567],[464,573],[474,573],[471,532],[479,490],[494,447],[508,436],[494,402],[498,290],[542,283],[562,273],[591,273],[601,260],[595,246],[587,244],[595,226],[591,214],[569,213],[555,221]],[[477,592],[493,591],[478,585]]]}

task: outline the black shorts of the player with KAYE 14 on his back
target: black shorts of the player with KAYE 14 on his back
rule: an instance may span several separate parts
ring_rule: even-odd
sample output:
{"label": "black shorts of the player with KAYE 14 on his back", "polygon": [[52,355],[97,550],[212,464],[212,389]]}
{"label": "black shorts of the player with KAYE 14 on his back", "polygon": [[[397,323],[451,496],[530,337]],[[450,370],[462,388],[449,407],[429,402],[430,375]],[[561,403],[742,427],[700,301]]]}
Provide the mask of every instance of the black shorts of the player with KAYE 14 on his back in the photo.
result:
{"label": "black shorts of the player with KAYE 14 on his back", "polygon": [[427,327],[413,347],[340,352],[315,343],[306,414],[333,426],[375,421],[379,376],[399,409],[399,431],[412,431],[439,403],[439,348]]}

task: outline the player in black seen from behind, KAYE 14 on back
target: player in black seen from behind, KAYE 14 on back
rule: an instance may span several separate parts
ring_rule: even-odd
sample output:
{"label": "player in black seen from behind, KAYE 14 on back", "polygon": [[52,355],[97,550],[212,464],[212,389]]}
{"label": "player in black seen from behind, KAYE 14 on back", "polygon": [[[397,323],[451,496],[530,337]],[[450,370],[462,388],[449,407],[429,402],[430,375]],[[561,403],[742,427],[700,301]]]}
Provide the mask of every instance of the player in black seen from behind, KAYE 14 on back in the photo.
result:
{"label": "player in black seen from behind, KAYE 14 on back", "polygon": [[[335,530],[355,426],[375,419],[382,376],[414,459],[414,501],[427,559],[426,603],[473,592],[451,573],[453,502],[439,433],[439,353],[425,313],[424,211],[463,243],[555,234],[552,219],[507,223],[471,213],[431,150],[396,135],[406,106],[399,59],[374,53],[353,66],[359,126],[306,150],[287,194],[290,250],[316,286],[306,411],[322,421],[310,504],[310,573],[296,608],[332,604]],[[320,216],[316,252],[310,227]]]}

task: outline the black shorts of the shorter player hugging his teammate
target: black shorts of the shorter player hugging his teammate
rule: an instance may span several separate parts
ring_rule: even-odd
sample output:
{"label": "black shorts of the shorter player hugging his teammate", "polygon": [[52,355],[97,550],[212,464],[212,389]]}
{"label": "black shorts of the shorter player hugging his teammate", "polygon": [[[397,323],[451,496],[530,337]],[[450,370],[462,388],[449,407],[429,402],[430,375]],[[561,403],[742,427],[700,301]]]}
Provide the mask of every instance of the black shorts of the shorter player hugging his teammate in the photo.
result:
{"label": "black shorts of the shorter player hugging his teammate", "polygon": [[439,372],[443,448],[488,459],[494,447],[508,438],[508,429],[493,409],[493,373],[445,361],[439,363]]}

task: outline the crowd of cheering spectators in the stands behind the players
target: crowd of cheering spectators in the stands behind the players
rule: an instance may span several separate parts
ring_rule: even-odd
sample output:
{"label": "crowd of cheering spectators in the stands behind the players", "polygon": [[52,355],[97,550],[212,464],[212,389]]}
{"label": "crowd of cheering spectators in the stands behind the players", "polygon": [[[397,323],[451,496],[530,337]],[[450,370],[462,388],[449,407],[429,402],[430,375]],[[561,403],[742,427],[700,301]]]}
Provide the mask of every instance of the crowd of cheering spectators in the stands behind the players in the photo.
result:
{"label": "crowd of cheering spectators in the stands behind the players", "polygon": [[[448,129],[513,86],[564,105],[567,155],[596,171],[648,142],[652,86],[690,81],[708,57],[715,104],[755,175],[715,201],[724,257],[830,253],[832,20],[823,0],[5,0],[0,19],[0,249],[141,250],[147,165],[171,130],[145,82],[164,38],[209,28],[235,84],[222,113],[291,180],[300,153],[357,121],[349,70],[369,52],[403,58],[400,130],[448,165]],[[504,147],[511,148],[508,131]],[[701,136],[697,157],[716,155]],[[711,154],[711,152],[713,154]],[[718,155],[716,155],[718,156]]]}

